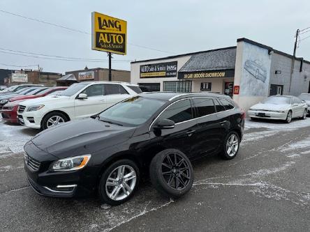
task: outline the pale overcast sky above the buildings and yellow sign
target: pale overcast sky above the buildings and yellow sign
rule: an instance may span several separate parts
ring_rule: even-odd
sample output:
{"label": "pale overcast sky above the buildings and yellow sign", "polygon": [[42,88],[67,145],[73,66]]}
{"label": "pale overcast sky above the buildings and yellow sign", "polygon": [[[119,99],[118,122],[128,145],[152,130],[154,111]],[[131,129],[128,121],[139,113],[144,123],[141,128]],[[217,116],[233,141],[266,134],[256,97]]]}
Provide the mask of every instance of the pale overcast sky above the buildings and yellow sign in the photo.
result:
{"label": "pale overcast sky above the buildings and yellow sign", "polygon": [[[124,19],[127,21],[128,42],[133,45],[127,46],[126,56],[114,54],[112,60],[112,68],[124,70],[130,70],[130,62],[117,60],[153,59],[230,47],[242,37],[292,54],[296,29],[310,26],[309,0],[1,0],[0,10],[88,33],[91,33],[92,11]],[[58,61],[3,53],[8,52],[3,49],[11,49],[50,56],[107,60],[105,52],[91,50],[91,36],[86,33],[1,11],[0,28],[0,68],[15,69],[6,65],[36,64],[46,72],[78,70],[85,65],[88,68],[108,68],[107,61]],[[297,56],[310,60],[310,37],[307,36],[310,36],[310,31],[300,35],[306,39],[300,41]]]}

